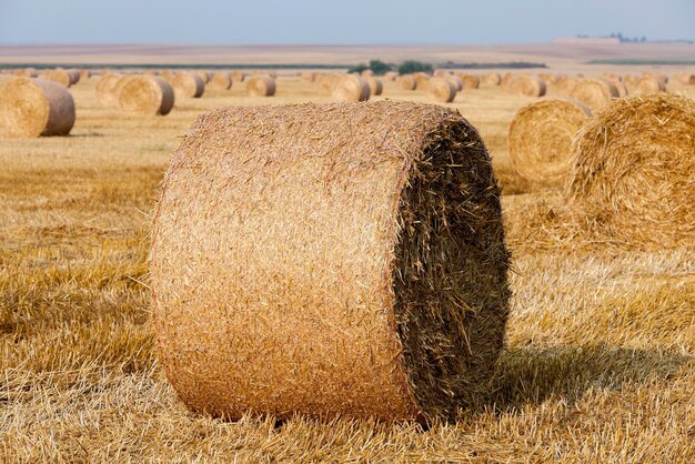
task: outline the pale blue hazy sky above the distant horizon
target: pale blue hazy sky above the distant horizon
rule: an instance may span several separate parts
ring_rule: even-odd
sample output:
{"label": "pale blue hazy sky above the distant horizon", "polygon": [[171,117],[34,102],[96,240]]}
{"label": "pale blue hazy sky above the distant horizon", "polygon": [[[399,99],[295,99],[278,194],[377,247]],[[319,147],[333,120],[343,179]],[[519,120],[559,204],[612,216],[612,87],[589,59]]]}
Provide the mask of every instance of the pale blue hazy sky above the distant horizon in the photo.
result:
{"label": "pale blue hazy sky above the distant horizon", "polygon": [[531,43],[695,39],[695,0],[0,0],[0,43]]}

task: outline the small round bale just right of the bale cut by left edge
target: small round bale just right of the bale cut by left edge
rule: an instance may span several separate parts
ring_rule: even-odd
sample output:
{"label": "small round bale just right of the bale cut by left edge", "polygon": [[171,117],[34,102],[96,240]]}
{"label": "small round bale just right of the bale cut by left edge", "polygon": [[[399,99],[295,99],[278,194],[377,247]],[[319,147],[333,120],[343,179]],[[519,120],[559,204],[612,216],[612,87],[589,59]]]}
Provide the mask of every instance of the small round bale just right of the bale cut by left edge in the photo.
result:
{"label": "small round bale just right of the bale cut by left edge", "polygon": [[173,108],[174,92],[169,82],[152,75],[133,75],[120,90],[119,108],[144,115],[167,115]]}

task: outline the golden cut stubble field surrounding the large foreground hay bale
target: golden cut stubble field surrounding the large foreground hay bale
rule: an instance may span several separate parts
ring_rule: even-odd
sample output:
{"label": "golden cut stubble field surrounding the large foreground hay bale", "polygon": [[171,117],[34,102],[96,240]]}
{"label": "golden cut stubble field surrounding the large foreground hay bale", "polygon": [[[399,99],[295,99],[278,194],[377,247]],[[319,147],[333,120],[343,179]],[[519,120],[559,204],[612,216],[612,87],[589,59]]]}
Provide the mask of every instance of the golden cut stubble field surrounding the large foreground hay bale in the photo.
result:
{"label": "golden cut stubble field surrounding the large foreground hay bale", "polygon": [[[274,98],[236,85],[141,118],[101,108],[94,84],[71,89],[71,137],[0,141],[0,461],[695,461],[693,250],[573,240],[530,220],[562,200],[511,171],[507,127],[531,99],[497,89],[449,104],[493,155],[515,250],[488,397],[429,430],[188,412],[149,325],[148,228],[171,153],[208,109],[331,99],[282,78]],[[429,101],[393,83],[384,95]]]}

